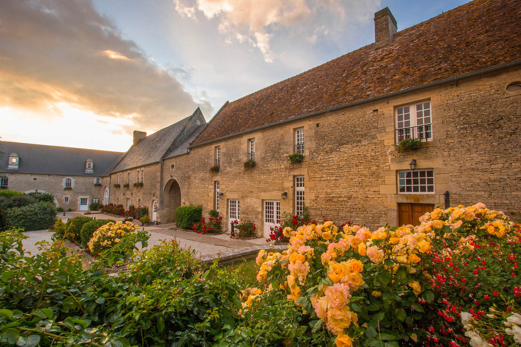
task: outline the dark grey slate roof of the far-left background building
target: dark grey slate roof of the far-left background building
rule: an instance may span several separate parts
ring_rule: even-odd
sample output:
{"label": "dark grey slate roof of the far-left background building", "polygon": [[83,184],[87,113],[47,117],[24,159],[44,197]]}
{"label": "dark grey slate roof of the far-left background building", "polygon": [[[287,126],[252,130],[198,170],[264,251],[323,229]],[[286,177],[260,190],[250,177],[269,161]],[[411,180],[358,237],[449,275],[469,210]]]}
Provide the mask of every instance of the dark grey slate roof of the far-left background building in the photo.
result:
{"label": "dark grey slate roof of the far-left background building", "polygon": [[[32,173],[67,176],[101,177],[121,157],[122,152],[96,149],[71,148],[60,146],[23,144],[19,142],[0,142],[0,172]],[[10,153],[20,158],[18,170],[7,169]],[[92,159],[93,173],[85,173],[85,162]]]}

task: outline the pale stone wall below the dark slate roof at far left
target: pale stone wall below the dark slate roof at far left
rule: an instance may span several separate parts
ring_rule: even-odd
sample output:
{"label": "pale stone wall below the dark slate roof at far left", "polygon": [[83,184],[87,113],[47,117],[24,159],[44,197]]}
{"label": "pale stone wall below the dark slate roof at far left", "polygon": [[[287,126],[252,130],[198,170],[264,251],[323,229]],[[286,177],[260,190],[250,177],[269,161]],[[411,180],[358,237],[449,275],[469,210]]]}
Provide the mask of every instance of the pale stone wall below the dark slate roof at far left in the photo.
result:
{"label": "pale stone wall below the dark slate roof at far left", "polygon": [[[94,176],[65,176],[42,175],[25,173],[3,173],[9,179],[9,189],[21,192],[30,192],[38,189],[39,192],[49,192],[56,197],[58,207],[67,211],[69,208],[76,211],[80,207],[80,198],[88,198],[89,205],[92,199],[103,200],[102,187],[94,186]],[[64,179],[72,178],[72,189],[64,189]],[[69,202],[65,203],[65,197]]]}

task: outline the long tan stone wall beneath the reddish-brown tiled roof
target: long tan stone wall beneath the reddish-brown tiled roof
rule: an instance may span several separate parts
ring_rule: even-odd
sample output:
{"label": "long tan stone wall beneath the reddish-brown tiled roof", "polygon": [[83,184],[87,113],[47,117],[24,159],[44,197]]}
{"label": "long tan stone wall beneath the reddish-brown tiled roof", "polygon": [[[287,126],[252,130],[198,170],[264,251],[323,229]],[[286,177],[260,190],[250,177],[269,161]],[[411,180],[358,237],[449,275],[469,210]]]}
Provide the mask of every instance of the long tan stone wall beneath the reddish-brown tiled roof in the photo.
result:
{"label": "long tan stone wall beneath the reddish-brown tiled roof", "polygon": [[[219,181],[226,224],[227,201],[240,199],[241,218],[254,221],[259,234],[263,200],[280,200],[283,212],[294,212],[295,175],[304,175],[305,204],[317,220],[396,225],[399,202],[438,205],[445,191],[451,205],[481,201],[519,211],[521,93],[506,92],[505,86],[520,79],[519,70],[481,76],[195,147],[189,155],[165,160],[162,186],[176,179],[181,203],[202,204],[207,214]],[[431,102],[433,140],[426,148],[396,153],[395,108],[422,100]],[[294,129],[302,126],[305,159],[291,166]],[[245,171],[249,138],[255,138],[257,165]],[[221,166],[212,174],[215,146],[221,146]],[[412,159],[418,169],[434,170],[434,194],[396,194],[397,170],[409,169]]]}

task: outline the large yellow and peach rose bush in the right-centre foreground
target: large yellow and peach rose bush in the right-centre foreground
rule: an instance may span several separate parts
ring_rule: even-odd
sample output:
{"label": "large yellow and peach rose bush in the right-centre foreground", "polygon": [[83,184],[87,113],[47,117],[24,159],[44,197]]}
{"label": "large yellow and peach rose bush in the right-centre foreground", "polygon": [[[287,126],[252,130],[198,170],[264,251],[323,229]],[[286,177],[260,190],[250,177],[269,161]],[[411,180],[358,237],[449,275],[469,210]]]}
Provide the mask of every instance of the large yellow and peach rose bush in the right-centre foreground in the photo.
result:
{"label": "large yellow and peach rose bush in the right-centre foreground", "polygon": [[420,302],[434,298],[423,272],[432,230],[325,221],[288,233],[288,250],[258,253],[257,280],[300,307],[311,344],[398,346],[417,336]]}

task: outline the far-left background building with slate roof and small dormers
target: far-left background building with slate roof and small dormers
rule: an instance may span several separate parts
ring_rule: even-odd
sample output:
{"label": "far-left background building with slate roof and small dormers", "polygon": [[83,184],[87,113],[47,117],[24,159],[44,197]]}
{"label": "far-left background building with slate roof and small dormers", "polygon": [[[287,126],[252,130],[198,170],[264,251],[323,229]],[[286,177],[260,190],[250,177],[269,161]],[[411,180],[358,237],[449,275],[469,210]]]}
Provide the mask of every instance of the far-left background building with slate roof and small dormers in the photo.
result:
{"label": "far-left background building with slate roof and small dormers", "polygon": [[27,193],[50,192],[64,210],[86,211],[102,200],[102,177],[123,155],[94,149],[0,142],[0,185]]}

